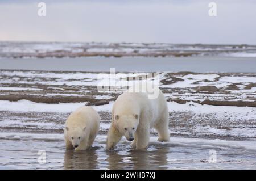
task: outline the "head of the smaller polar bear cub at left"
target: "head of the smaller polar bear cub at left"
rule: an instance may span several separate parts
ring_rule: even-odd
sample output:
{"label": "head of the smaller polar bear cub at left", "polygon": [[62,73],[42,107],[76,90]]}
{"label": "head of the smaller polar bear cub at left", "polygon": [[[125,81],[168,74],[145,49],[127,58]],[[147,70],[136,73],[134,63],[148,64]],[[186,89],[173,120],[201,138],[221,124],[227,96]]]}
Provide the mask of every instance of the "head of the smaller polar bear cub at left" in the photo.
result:
{"label": "head of the smaller polar bear cub at left", "polygon": [[74,148],[79,147],[82,140],[84,140],[86,135],[86,127],[65,127],[68,132],[68,140],[72,142]]}

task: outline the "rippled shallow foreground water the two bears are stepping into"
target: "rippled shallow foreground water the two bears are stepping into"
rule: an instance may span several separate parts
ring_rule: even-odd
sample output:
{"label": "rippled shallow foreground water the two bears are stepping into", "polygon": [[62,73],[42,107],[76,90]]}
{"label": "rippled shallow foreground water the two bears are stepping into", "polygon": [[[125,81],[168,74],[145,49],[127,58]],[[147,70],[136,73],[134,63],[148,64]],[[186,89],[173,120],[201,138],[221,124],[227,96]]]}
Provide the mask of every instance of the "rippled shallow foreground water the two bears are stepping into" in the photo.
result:
{"label": "rippled shallow foreground water the two bears are stepping into", "polygon": [[[46,151],[44,164],[38,162],[39,150]],[[209,163],[210,150],[216,151],[216,163]],[[65,150],[63,140],[14,139],[1,140],[0,151],[0,169],[256,169],[255,150],[236,142],[188,144],[174,139],[168,144],[151,141],[147,150],[133,150],[121,141],[114,151],[107,151],[105,142],[97,140],[89,150],[74,151]]]}

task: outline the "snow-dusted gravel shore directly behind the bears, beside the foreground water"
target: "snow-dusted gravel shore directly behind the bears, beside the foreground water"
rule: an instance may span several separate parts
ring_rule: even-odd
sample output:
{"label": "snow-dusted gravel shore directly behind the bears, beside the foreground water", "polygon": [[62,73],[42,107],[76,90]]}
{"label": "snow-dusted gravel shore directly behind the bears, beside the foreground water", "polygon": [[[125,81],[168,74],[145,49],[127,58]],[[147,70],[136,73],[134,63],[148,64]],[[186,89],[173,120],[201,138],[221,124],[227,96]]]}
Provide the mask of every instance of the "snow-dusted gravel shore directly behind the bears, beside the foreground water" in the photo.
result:
{"label": "snow-dusted gravel shore directly behind the bears, beside the foreground water", "polygon": [[[100,112],[101,131],[104,134],[110,126],[110,112],[113,103],[93,106]],[[29,129],[33,132],[62,132],[68,114],[85,104],[86,102],[46,104],[28,100],[17,102],[0,100],[2,113],[0,128],[3,131],[26,131]],[[168,102],[168,107],[170,132],[175,136],[212,137],[228,140],[256,138],[255,107],[212,106],[194,102],[185,104]],[[154,135],[156,132],[152,129],[151,133]]]}

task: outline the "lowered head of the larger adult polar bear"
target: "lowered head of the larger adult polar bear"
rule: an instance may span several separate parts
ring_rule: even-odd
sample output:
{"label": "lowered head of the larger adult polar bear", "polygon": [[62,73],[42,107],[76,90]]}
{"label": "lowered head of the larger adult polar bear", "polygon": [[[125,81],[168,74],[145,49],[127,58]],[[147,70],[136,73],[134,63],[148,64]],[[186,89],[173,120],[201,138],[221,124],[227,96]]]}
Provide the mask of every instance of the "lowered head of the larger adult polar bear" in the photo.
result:
{"label": "lowered head of the larger adult polar bear", "polygon": [[125,135],[128,141],[133,141],[134,133],[139,125],[139,115],[115,115],[114,124],[118,131]]}

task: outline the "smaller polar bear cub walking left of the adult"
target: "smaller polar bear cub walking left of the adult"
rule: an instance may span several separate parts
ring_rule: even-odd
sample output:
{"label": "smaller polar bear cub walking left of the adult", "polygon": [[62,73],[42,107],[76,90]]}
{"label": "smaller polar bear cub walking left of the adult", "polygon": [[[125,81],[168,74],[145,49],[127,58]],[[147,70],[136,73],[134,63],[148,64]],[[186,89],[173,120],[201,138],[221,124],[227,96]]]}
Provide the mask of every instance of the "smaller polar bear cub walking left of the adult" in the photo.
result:
{"label": "smaller polar bear cub walking left of the adult", "polygon": [[92,108],[82,106],[69,115],[64,128],[67,149],[86,150],[92,146],[100,128],[100,116]]}

